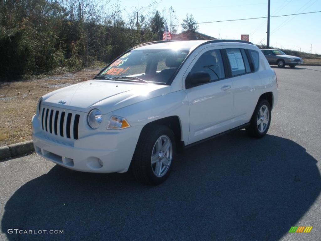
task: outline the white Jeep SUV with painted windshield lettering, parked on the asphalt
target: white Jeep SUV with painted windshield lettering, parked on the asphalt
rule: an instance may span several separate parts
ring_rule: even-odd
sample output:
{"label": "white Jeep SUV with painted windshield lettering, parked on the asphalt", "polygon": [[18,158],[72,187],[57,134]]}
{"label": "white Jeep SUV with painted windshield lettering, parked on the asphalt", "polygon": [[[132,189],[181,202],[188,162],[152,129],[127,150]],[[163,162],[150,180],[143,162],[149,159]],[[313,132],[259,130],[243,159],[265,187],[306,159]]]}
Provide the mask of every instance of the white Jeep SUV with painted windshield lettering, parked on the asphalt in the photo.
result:
{"label": "white Jeep SUV with painted windshield lettering, parked on the asphalt", "polygon": [[131,169],[162,183],[175,152],[230,130],[263,137],[277,79],[255,45],[239,40],[138,45],[91,80],[40,98],[32,118],[36,152],[64,167]]}

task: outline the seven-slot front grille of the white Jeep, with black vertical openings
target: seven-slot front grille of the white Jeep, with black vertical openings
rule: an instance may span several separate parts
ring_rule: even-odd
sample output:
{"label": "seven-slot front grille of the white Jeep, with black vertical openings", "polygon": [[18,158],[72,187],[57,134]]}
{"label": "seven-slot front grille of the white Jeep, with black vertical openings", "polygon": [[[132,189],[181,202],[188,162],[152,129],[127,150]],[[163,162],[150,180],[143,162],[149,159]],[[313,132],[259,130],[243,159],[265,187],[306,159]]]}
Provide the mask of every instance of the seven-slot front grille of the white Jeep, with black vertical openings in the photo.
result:
{"label": "seven-slot front grille of the white Jeep, with black vertical openings", "polygon": [[46,132],[56,136],[78,139],[78,126],[80,115],[71,112],[43,108],[41,126]]}

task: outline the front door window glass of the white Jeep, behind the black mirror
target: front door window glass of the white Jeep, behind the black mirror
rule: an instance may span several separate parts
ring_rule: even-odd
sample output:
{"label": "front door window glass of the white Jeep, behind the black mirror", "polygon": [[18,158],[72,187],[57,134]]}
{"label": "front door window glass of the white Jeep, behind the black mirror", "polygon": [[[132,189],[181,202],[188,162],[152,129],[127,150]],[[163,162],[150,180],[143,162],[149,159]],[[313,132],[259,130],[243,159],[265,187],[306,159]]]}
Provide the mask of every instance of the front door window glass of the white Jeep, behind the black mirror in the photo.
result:
{"label": "front door window glass of the white Jeep, behind the black mirror", "polygon": [[201,55],[191,69],[191,74],[204,71],[211,76],[211,81],[225,77],[221,52],[219,49],[209,50]]}

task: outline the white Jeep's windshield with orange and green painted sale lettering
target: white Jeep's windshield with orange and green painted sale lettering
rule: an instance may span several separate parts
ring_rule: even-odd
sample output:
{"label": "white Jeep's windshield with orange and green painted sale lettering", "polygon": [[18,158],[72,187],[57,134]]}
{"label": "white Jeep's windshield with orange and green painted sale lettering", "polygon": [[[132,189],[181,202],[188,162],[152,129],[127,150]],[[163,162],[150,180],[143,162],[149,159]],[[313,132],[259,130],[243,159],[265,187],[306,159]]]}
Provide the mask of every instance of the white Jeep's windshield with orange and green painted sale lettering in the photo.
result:
{"label": "white Jeep's windshield with orange and green painted sale lettering", "polygon": [[188,50],[132,50],[105,68],[96,78],[166,84],[186,58]]}

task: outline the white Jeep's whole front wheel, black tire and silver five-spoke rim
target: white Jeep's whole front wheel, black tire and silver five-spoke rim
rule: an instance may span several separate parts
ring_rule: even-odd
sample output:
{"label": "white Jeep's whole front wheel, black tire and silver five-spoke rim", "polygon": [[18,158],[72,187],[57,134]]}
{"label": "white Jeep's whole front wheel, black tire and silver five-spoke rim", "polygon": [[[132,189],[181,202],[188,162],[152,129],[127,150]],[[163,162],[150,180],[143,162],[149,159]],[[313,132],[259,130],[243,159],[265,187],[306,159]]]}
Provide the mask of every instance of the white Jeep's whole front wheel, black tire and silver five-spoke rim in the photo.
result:
{"label": "white Jeep's whole front wheel, black tire and silver five-spoke rim", "polygon": [[170,173],[175,153],[174,133],[167,126],[152,125],[143,129],[132,160],[137,181],[158,185]]}

